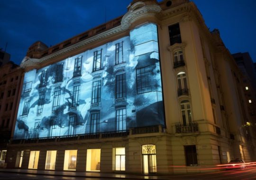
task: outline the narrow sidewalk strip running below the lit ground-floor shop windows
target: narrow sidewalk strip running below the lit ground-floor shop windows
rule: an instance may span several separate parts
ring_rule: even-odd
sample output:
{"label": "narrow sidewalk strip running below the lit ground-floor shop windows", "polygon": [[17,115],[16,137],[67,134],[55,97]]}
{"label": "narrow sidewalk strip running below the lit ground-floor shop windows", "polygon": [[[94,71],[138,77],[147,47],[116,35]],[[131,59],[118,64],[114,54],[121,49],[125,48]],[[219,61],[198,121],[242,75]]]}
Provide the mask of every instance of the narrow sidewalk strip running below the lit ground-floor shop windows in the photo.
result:
{"label": "narrow sidewalk strip running below the lit ground-floor shop windows", "polygon": [[23,173],[23,174],[38,174],[51,176],[67,176],[81,178],[104,178],[104,179],[155,179],[155,180],[170,180],[167,176],[157,175],[136,175],[136,174],[117,174],[117,173],[101,173],[101,172],[75,172],[75,171],[41,171],[41,170],[22,170],[22,169],[0,169],[0,172]]}

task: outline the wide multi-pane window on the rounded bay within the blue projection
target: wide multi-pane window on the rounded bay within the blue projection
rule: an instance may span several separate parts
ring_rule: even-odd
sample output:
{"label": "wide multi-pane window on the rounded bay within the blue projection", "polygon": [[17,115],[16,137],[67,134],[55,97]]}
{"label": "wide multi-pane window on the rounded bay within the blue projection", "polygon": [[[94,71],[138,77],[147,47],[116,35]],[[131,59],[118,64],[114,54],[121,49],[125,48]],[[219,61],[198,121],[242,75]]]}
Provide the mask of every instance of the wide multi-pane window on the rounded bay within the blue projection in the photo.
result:
{"label": "wide multi-pane window on the rounded bay within the blue projection", "polygon": [[137,94],[152,91],[150,66],[136,69]]}

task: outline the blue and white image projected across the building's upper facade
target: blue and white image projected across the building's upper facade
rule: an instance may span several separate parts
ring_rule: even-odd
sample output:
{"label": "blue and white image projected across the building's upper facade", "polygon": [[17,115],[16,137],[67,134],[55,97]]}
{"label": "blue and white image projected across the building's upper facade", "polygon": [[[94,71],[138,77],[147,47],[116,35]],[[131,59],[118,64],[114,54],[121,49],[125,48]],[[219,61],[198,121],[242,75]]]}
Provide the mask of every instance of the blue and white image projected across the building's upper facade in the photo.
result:
{"label": "blue and white image projected across the building's upper facade", "polygon": [[157,28],[27,72],[14,138],[165,125]]}

